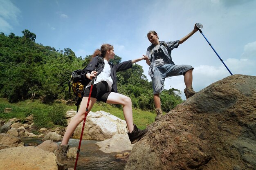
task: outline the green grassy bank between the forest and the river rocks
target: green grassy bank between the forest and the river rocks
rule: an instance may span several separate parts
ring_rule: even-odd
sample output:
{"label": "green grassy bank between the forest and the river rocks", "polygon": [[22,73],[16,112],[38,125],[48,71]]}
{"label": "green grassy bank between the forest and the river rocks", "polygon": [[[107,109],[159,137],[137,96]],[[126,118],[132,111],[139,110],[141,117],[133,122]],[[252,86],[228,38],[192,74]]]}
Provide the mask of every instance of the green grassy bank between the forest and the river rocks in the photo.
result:
{"label": "green grassy bank between the forest and the river rocks", "polygon": [[[11,113],[4,113],[4,108],[12,108]],[[34,115],[34,124],[39,128],[54,128],[55,126],[66,126],[65,113],[67,110],[76,110],[76,106],[66,106],[65,104],[42,104],[40,100],[25,100],[18,103],[9,103],[6,99],[0,98],[0,119],[9,120],[11,118],[25,119]],[[115,105],[97,102],[92,108],[92,112],[103,110],[111,113],[120,119],[124,119],[123,109]],[[132,109],[133,121],[138,128],[144,129],[147,125],[155,121],[155,111],[144,111]]]}

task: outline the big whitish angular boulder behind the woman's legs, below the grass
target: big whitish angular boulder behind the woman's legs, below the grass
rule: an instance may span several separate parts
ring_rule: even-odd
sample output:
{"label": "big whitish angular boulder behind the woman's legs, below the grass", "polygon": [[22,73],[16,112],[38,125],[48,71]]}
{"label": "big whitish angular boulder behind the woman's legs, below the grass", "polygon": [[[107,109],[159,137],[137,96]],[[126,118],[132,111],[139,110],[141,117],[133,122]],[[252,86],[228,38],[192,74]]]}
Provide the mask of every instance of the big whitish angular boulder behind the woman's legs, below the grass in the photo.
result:
{"label": "big whitish angular boulder behind the woman's legs, below the grass", "polygon": [[[79,139],[83,122],[74,132],[73,138]],[[106,140],[116,134],[126,134],[126,122],[104,111],[90,112],[86,118],[83,139]]]}

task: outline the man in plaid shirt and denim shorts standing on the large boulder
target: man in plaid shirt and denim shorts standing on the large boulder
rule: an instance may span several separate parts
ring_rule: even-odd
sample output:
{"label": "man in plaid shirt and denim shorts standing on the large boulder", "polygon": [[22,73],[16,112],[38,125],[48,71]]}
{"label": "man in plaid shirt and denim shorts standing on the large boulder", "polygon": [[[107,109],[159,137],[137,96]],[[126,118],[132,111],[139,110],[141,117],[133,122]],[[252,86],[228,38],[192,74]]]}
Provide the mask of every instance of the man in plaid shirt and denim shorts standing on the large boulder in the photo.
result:
{"label": "man in plaid shirt and denim shorts standing on the large boulder", "polygon": [[149,31],[147,34],[151,45],[146,52],[146,63],[150,66],[148,75],[150,75],[153,83],[154,102],[157,116],[155,120],[162,117],[161,101],[159,94],[164,90],[164,80],[166,77],[184,75],[184,82],[186,88],[184,93],[186,99],[193,96],[196,92],[192,88],[192,71],[193,67],[190,65],[175,65],[171,58],[171,51],[185,42],[191,37],[198,27],[195,25],[193,31],[180,40],[164,42],[159,41],[159,37],[155,31]]}

